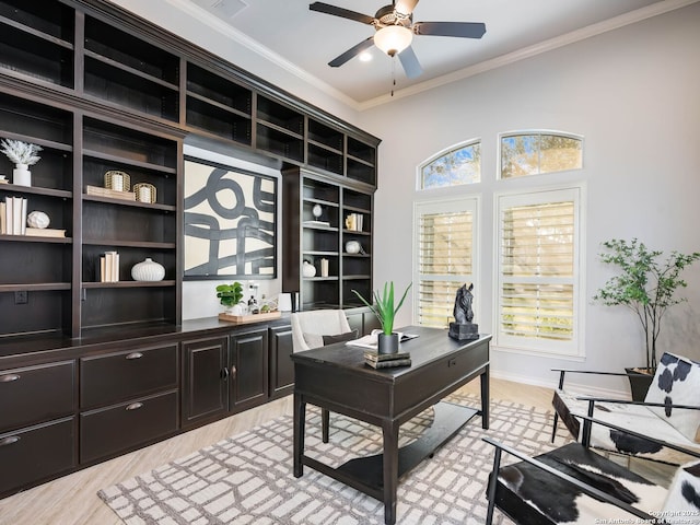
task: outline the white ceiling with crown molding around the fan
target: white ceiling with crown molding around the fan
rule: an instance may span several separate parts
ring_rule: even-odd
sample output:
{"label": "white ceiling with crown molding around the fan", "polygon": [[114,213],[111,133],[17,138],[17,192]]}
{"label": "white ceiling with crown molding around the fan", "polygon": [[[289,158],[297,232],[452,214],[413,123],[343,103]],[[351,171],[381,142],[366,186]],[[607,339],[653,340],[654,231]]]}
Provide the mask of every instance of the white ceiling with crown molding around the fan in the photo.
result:
{"label": "white ceiling with crown molding around the fan", "polygon": [[[415,22],[483,22],[481,39],[416,36],[412,47],[423,74],[406,78],[398,59],[376,47],[373,60],[357,57],[340,68],[327,63],[372,36],[360,22],[310,11],[310,0],[178,0],[188,14],[209,25],[226,27],[238,42],[287,69],[311,78],[322,89],[355,106],[397,93],[421,90],[457,77],[508,63],[541,50],[637,22],[697,0],[421,0]],[[374,16],[386,0],[328,0]],[[223,24],[222,22],[225,22]]]}

